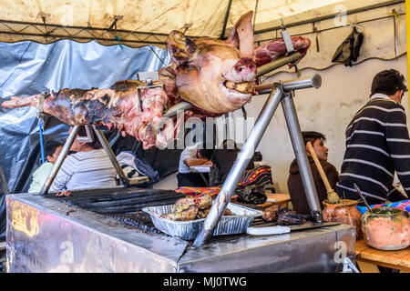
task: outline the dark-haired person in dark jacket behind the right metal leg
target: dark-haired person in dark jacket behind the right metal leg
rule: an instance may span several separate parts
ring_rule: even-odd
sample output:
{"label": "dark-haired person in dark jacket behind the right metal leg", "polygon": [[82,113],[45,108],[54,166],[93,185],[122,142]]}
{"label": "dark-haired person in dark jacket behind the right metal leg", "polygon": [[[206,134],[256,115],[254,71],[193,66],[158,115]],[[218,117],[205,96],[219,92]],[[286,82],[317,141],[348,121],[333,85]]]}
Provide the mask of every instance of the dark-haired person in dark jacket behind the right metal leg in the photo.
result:
{"label": "dark-haired person in dark jacket behind the right metal leg", "polygon": [[[332,164],[327,162],[329,149],[323,144],[323,141],[325,141],[326,138],[323,134],[314,131],[302,132],[302,136],[305,146],[309,141],[312,143],[314,153],[323,166],[324,174],[327,176],[330,185],[334,189],[337,181],[339,180],[339,173]],[[317,196],[323,209],[323,200],[327,198],[326,187],[323,184],[322,177],[320,176],[319,171],[314,164],[312,155],[309,152],[307,146],[306,154],[308,156],[309,165],[311,166],[313,182],[316,186]],[[301,172],[299,171],[299,166],[296,159],[292,161],[291,167],[289,169],[288,190],[289,195],[291,196],[293,209],[296,211],[296,213],[301,215],[310,215],[311,209],[308,205],[308,201],[304,193]]]}

